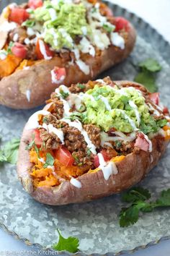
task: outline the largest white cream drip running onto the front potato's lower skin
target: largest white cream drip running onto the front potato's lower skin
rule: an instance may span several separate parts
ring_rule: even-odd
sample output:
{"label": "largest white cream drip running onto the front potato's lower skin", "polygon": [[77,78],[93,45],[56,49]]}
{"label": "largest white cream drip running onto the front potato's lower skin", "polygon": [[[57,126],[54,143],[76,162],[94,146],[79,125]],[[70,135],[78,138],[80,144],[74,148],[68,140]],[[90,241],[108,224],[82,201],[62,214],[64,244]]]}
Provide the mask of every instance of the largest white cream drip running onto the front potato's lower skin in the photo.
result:
{"label": "largest white cream drip running onto the front potato's lower skin", "polygon": [[117,166],[114,162],[109,161],[109,163],[106,163],[102,153],[98,153],[97,155],[99,157],[99,168],[101,168],[105,180],[108,180],[112,174],[118,174]]}

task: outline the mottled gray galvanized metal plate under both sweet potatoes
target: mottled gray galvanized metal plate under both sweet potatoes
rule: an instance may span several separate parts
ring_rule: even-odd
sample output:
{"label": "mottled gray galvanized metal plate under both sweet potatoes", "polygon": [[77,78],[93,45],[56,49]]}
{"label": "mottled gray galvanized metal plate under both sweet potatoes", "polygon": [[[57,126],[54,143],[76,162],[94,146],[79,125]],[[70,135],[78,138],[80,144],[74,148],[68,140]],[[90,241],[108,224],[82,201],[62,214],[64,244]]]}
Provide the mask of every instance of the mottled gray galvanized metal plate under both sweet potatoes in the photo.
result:
{"label": "mottled gray galvanized metal plate under both sweet potatoes", "polygon": [[[6,4],[6,1],[3,1]],[[137,70],[135,64],[148,57],[156,58],[163,69],[158,74],[157,84],[161,99],[169,105],[170,46],[146,22],[116,5],[115,15],[127,17],[138,30],[138,40],[133,54],[100,77],[110,75],[114,80],[133,80]],[[21,135],[22,128],[32,111],[14,111],[0,107],[0,131],[3,140]],[[170,182],[169,150],[141,182],[141,186],[151,189],[155,196],[161,189],[168,188]],[[15,166],[0,167],[0,223],[9,234],[23,239],[27,244],[40,248],[50,247],[58,239],[56,229],[64,236],[80,239],[81,255],[111,253],[116,255],[132,252],[134,249],[154,244],[162,238],[170,237],[170,210],[156,210],[141,216],[138,223],[127,229],[119,227],[117,214],[122,208],[120,196],[111,196],[81,205],[50,207],[35,202],[24,192],[17,181]],[[125,205],[124,205],[125,206]]]}

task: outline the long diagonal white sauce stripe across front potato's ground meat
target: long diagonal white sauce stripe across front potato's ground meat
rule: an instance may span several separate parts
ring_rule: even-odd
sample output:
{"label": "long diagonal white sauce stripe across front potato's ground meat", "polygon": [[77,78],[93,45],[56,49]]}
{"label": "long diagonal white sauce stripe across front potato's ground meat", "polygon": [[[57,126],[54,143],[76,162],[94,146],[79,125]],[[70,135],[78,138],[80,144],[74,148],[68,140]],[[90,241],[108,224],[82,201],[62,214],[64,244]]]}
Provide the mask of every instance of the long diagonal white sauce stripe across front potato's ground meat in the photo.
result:
{"label": "long diagonal white sauce stripe across front potato's ground meat", "polygon": [[71,121],[69,119],[62,119],[62,121],[65,121],[70,127],[75,127],[76,129],[79,129],[79,131],[81,132],[81,135],[84,136],[84,140],[87,144],[87,147],[91,151],[91,153],[93,153],[94,155],[97,154],[96,146],[89,139],[88,133],[83,129],[82,124],[79,120]]}

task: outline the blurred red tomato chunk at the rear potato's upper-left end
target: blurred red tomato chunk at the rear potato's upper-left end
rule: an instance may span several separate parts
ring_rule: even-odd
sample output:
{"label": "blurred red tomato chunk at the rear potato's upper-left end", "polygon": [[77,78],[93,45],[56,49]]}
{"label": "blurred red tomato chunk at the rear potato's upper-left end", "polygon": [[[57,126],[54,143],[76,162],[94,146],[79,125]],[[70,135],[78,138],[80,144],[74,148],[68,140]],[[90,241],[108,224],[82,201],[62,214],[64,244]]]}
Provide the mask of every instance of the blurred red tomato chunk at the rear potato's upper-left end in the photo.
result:
{"label": "blurred red tomato chunk at the rear potato's upper-left end", "polygon": [[16,22],[19,25],[21,25],[22,22],[27,20],[29,17],[30,17],[30,14],[26,11],[26,9],[13,8],[11,10],[10,15],[9,15],[9,21],[10,22]]}

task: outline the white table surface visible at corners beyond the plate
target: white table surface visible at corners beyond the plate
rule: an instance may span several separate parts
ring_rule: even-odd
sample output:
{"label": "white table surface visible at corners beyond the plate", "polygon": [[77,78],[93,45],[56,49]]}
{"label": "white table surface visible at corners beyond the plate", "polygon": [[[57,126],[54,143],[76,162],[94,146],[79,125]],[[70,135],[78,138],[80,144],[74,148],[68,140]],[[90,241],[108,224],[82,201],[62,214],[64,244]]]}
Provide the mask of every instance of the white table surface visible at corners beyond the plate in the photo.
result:
{"label": "white table surface visible at corners beyond the plate", "polygon": [[[111,0],[115,4],[129,9],[138,14],[144,20],[155,27],[159,33],[164,35],[170,42],[170,0]],[[7,251],[7,252],[6,252]],[[13,251],[13,253],[9,254]],[[38,249],[27,247],[24,243],[17,241],[9,234],[0,229],[0,255],[36,255],[40,254]],[[159,244],[135,252],[133,256],[169,256],[170,241],[160,242]],[[128,255],[124,255],[128,256]]]}

